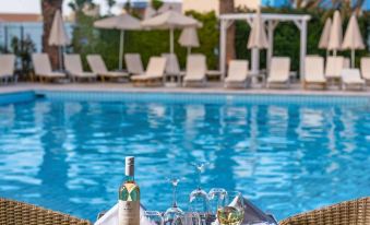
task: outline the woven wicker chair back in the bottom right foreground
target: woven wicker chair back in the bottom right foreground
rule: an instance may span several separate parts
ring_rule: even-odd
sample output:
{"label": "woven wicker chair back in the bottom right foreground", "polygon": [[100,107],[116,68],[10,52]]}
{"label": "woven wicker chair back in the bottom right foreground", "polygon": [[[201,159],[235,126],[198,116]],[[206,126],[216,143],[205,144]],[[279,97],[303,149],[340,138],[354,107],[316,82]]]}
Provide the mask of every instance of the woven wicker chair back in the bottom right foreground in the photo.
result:
{"label": "woven wicker chair back in the bottom right foreground", "polygon": [[370,198],[341,202],[286,218],[281,225],[369,225]]}

